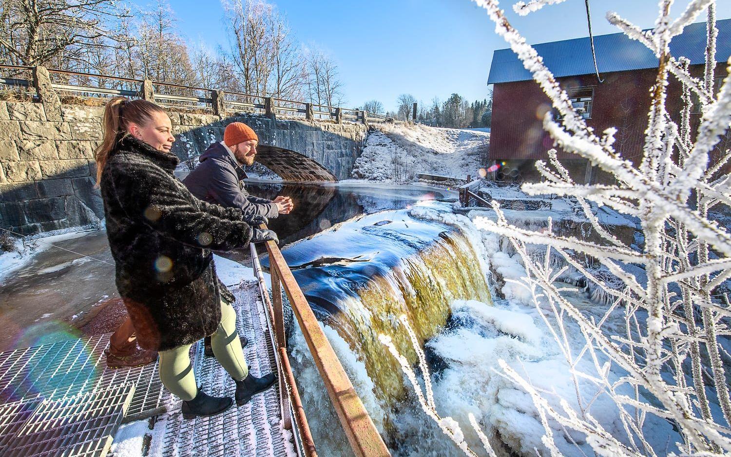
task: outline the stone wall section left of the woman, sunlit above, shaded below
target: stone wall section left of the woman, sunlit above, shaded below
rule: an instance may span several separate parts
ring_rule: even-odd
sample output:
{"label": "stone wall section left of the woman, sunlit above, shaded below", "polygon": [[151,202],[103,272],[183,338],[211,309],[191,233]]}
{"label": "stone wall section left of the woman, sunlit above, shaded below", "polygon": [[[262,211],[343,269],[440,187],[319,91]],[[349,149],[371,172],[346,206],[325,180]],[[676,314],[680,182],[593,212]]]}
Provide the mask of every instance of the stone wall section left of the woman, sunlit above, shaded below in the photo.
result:
{"label": "stone wall section left of the woman, sunlit above, shaded below", "polygon": [[99,222],[104,213],[91,177],[102,108],[61,106],[58,116],[45,108],[0,102],[0,226],[23,234]]}

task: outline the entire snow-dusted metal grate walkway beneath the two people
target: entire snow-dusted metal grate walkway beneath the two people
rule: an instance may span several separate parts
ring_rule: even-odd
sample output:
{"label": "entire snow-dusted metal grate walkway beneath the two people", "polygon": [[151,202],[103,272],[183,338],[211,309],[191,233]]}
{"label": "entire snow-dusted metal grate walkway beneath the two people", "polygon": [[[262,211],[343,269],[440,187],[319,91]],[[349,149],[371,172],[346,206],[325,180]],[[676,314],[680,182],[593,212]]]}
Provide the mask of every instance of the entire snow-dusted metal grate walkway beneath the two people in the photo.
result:
{"label": "entire snow-dusted metal grate walkway beneath the two people", "polygon": [[[233,288],[240,334],[254,376],[276,373],[274,347],[256,282]],[[0,455],[105,456],[118,426],[164,414],[155,434],[165,457],[290,456],[279,385],[213,418],[183,420],[180,402],[162,388],[157,363],[107,369],[109,335],[0,353]],[[235,382],[203,344],[194,346],[194,370],[207,393],[233,396]],[[176,401],[173,404],[173,401]]]}

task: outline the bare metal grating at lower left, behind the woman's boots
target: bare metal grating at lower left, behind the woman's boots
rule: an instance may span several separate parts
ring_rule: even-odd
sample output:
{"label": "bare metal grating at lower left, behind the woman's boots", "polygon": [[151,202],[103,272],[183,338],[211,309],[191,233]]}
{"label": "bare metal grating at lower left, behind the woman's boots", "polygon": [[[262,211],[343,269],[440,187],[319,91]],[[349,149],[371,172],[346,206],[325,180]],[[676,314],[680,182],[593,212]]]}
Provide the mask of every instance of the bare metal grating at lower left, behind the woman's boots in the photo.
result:
{"label": "bare metal grating at lower left, behind the woman's boots", "polygon": [[157,364],[107,369],[109,335],[0,353],[0,454],[105,456],[123,422],[159,415]]}

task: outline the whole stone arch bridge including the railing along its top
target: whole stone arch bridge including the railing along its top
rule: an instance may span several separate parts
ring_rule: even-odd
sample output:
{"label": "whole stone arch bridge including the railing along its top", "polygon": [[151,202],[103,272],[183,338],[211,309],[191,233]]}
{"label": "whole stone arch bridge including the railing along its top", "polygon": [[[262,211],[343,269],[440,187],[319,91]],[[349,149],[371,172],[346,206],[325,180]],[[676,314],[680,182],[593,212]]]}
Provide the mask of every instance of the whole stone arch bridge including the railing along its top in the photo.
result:
{"label": "whole stone arch bridge including the railing along its top", "polygon": [[[68,91],[86,97],[142,94],[145,99],[167,104],[200,102],[213,114],[176,112],[168,105],[176,137],[175,154],[181,159],[202,154],[208,145],[222,140],[228,124],[241,121],[260,137],[257,161],[285,181],[349,178],[371,120],[363,111],[310,104],[294,110],[304,116],[284,119],[277,115],[293,109],[278,108],[271,98],[261,105],[226,105],[221,91],[211,91],[209,98],[154,94],[150,81],[144,81],[139,91],[69,86],[53,82],[43,67],[26,69],[31,74],[27,79],[0,78],[0,86],[15,86],[22,100],[0,102],[0,227],[23,235],[98,224],[104,217],[99,191],[94,189],[93,152],[102,139],[103,107],[88,106],[84,100],[80,103],[80,97],[64,97]],[[260,113],[238,113],[232,109],[237,107],[253,107]],[[317,118],[327,117],[322,114],[332,116]]]}

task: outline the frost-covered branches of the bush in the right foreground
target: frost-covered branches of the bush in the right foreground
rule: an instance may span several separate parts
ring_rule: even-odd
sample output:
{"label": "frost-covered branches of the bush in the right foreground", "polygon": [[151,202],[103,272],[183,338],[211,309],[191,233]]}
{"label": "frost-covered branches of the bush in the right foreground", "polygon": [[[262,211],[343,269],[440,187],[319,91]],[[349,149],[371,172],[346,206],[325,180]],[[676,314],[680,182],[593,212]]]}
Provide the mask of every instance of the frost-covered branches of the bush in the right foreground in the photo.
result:
{"label": "frost-covered branches of the bush in the right foreground", "polygon": [[[525,184],[531,195],[555,194],[574,197],[586,220],[599,235],[599,242],[527,230],[507,221],[493,203],[496,222],[475,219],[475,224],[510,241],[526,274],[520,284],[529,290],[539,315],[548,326],[558,349],[571,367],[574,385],[588,382],[596,395],[583,396],[570,407],[552,407],[539,390],[517,371],[502,363],[503,371],[526,393],[537,408],[537,419],[545,428],[545,450],[556,454],[553,430],[548,421],[586,435],[586,442],[599,455],[653,455],[660,453],[648,444],[645,426],[649,417],[667,421],[676,434],[678,453],[710,456],[731,452],[731,392],[727,379],[729,355],[721,344],[731,333],[731,306],[727,287],[731,281],[730,227],[711,217],[711,208],[730,211],[731,176],[727,164],[731,153],[719,145],[731,127],[731,78],[726,77],[718,94],[713,80],[716,67],[716,1],[692,0],[677,18],[670,15],[671,0],[659,1],[653,29],[640,30],[616,13],[607,15],[629,39],[645,45],[658,58],[651,88],[643,157],[633,163],[618,154],[613,143],[616,129],[599,134],[574,112],[567,93],[545,66],[536,50],[510,24],[496,0],[474,0],[488,11],[496,33],[504,37],[523,66],[550,99],[561,116],[551,113],[543,119],[544,129],[554,145],[587,159],[592,166],[610,173],[616,184],[576,184],[558,161],[556,151],[548,162],[539,161],[542,183]],[[515,5],[521,15],[558,1],[534,0]],[[690,61],[671,56],[673,37],[702,12],[706,14],[705,68],[701,78],[691,75]],[[731,71],[731,61],[726,62]],[[681,112],[671,113],[667,87],[671,78],[681,85]],[[700,125],[691,126],[692,97],[698,95]],[[710,163],[711,156],[717,160]],[[639,219],[643,234],[640,246],[625,246],[602,226],[591,203]],[[542,246],[546,246],[542,249]],[[541,257],[541,252],[545,254]],[[586,267],[584,254],[602,265],[598,275]],[[561,260],[559,263],[558,260]],[[629,269],[641,268],[636,276]],[[556,270],[553,265],[559,265]],[[580,274],[594,290],[609,298],[606,313],[596,322],[568,298],[567,287],[557,284],[565,267]],[[603,277],[611,275],[613,283]],[[621,284],[621,285],[618,285]],[[587,286],[588,287],[588,286]],[[621,335],[605,325],[610,314],[624,314]],[[576,352],[569,347],[564,326],[577,325],[586,345]],[[578,369],[589,360],[594,369]],[[725,364],[724,364],[725,360]],[[598,396],[608,396],[617,405],[618,423],[624,437],[607,432],[591,415]],[[716,413],[716,412],[718,413]]]}

